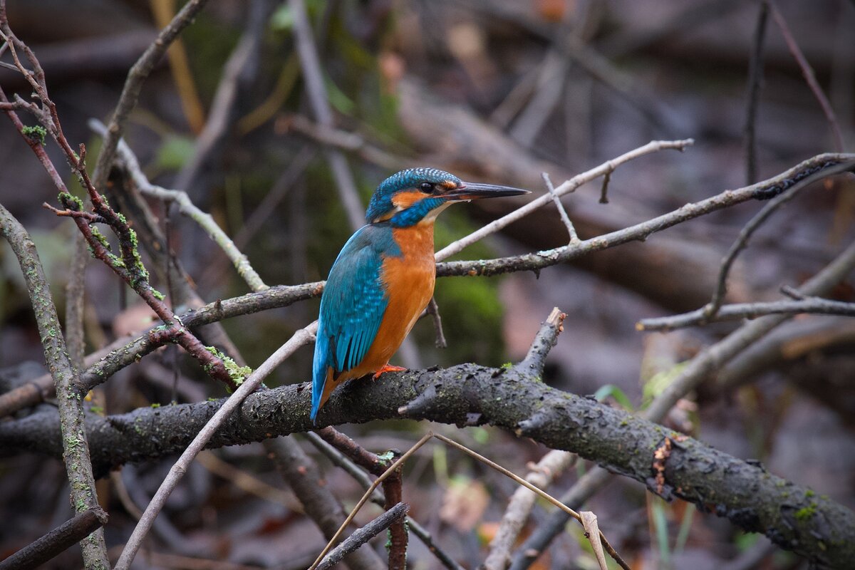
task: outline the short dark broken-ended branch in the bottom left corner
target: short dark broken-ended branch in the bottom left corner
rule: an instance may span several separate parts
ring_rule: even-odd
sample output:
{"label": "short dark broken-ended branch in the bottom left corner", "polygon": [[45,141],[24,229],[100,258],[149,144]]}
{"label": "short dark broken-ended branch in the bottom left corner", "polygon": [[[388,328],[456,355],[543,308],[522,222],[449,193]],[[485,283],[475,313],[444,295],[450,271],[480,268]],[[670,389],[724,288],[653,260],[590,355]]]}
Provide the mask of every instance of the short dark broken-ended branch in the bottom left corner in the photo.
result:
{"label": "short dark broken-ended branch in the bottom left corner", "polygon": [[107,519],[103,508],[97,505],[87,508],[73,519],[65,521],[43,537],[0,561],[0,570],[29,570],[38,567],[106,525]]}

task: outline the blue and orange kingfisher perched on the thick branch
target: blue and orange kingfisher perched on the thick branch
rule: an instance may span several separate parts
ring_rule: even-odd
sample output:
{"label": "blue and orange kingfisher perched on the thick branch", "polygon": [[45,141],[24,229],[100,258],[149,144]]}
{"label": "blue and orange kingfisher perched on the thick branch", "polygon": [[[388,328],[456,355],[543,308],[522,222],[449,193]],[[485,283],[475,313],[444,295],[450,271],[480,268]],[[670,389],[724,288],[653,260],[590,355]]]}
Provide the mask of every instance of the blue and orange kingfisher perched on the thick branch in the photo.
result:
{"label": "blue and orange kingfisher perched on the thick branch", "polygon": [[436,168],[385,179],[371,197],[367,224],[342,248],[321,295],[312,366],[311,420],[349,379],[406,368],[389,359],[433,297],[433,222],[455,202],[517,196],[527,190],[463,182]]}

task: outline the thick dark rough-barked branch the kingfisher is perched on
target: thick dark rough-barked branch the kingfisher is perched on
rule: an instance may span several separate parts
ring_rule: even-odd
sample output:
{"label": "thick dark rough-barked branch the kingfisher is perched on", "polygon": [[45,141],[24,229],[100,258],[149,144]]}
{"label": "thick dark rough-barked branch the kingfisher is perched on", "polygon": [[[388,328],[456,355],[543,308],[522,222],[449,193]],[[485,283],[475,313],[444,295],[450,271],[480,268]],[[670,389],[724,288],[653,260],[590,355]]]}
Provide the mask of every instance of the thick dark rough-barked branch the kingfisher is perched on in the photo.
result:
{"label": "thick dark rough-barked branch the kingfisher is perched on", "polygon": [[[221,402],[141,408],[87,421],[97,473],[128,461],[183,450]],[[308,385],[289,385],[248,397],[210,447],[245,444],[271,435],[314,429]],[[403,417],[460,426],[489,424],[597,461],[657,490],[654,456],[661,461],[666,497],[681,497],[727,516],[747,531],[764,532],[783,548],[840,566],[855,560],[855,514],[763,467],[713,450],[693,438],[632,414],[547,386],[518,367],[464,364],[438,371],[387,373],[354,381],[333,394],[321,424]],[[0,425],[0,450],[59,449],[56,418],[36,414]]]}

